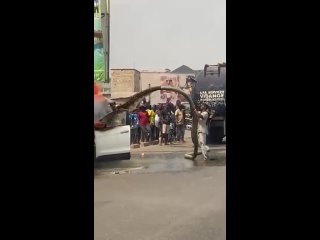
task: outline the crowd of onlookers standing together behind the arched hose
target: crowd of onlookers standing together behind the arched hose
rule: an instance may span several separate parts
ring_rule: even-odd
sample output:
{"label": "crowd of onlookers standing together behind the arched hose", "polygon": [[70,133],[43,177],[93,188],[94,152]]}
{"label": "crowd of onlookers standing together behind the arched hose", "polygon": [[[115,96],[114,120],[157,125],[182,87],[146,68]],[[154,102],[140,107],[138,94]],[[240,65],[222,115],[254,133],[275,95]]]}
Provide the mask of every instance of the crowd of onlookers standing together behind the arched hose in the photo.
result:
{"label": "crowd of onlookers standing together behind the arched hose", "polygon": [[130,116],[131,144],[159,140],[159,144],[184,143],[186,128],[185,107],[177,100],[176,106],[167,102],[151,106],[145,99]]}

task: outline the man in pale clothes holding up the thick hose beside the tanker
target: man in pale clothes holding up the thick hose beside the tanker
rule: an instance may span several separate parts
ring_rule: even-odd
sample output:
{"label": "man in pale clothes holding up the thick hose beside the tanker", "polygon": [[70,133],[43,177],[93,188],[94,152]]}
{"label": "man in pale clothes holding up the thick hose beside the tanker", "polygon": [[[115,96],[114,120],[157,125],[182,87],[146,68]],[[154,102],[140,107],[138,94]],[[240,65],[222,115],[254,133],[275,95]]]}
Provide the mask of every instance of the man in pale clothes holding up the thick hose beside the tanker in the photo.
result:
{"label": "man in pale clothes holding up the thick hose beside the tanker", "polygon": [[207,134],[208,134],[208,127],[207,127],[207,120],[208,120],[208,106],[207,104],[203,103],[200,106],[201,112],[195,110],[195,114],[199,117],[198,121],[198,142],[201,147],[203,159],[206,161],[208,160],[208,151],[209,147],[207,144]]}

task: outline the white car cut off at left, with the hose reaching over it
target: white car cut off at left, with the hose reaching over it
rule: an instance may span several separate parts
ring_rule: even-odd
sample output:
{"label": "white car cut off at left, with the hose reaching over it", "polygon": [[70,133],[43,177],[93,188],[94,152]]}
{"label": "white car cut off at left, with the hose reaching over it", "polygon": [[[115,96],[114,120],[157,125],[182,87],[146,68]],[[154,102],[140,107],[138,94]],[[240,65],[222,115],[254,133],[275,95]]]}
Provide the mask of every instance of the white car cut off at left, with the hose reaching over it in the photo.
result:
{"label": "white car cut off at left, with the hose reaching over it", "polygon": [[99,121],[96,121],[94,128],[96,161],[130,159],[128,116],[126,110],[109,112]]}

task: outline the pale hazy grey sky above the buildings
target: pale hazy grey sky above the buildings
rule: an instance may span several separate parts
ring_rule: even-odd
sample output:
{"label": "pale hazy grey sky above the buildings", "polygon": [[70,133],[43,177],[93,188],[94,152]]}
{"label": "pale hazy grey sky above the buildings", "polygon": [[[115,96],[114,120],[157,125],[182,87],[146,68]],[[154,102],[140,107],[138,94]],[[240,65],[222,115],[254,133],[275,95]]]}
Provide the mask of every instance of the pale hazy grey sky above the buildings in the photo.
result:
{"label": "pale hazy grey sky above the buildings", "polygon": [[226,0],[110,0],[110,69],[226,62]]}

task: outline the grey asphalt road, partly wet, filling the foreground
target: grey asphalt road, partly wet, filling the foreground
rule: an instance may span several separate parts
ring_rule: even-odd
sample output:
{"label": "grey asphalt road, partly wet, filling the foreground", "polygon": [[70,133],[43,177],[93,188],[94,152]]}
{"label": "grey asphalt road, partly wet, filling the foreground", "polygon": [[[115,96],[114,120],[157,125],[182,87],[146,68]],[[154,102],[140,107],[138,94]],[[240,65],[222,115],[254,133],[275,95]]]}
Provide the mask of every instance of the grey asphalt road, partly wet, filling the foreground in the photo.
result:
{"label": "grey asphalt road, partly wet, filling the foreground", "polygon": [[194,164],[182,153],[145,153],[100,164],[94,239],[226,239],[225,152],[214,158]]}

